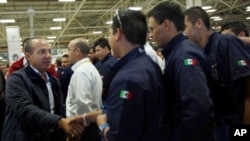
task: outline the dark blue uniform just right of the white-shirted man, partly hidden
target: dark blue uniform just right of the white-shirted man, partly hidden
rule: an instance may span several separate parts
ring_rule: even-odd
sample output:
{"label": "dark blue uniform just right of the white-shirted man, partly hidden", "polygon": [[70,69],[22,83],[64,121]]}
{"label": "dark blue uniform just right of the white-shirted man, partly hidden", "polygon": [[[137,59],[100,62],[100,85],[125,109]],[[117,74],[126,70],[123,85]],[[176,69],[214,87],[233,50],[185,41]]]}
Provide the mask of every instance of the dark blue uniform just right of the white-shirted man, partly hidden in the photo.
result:
{"label": "dark blue uniform just right of the white-shirted man, partly hidden", "polygon": [[101,60],[101,67],[98,69],[99,73],[102,77],[103,82],[103,93],[102,93],[102,101],[106,101],[108,87],[112,78],[111,68],[115,65],[117,59],[109,53]]}

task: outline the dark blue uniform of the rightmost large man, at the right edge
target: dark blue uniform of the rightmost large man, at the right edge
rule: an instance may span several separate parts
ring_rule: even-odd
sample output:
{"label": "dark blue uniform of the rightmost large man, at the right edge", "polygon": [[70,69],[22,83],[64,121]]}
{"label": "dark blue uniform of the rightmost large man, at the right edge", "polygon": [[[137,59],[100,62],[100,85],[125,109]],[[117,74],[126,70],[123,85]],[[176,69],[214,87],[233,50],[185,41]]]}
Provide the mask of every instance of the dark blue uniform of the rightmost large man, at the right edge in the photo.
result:
{"label": "dark blue uniform of the rightmost large man, at the right edge", "polygon": [[[237,37],[213,33],[205,47],[209,60],[209,80],[215,109],[216,128],[242,124],[245,80],[250,76],[249,48]],[[222,130],[223,131],[223,130]],[[227,129],[217,134],[228,140]]]}

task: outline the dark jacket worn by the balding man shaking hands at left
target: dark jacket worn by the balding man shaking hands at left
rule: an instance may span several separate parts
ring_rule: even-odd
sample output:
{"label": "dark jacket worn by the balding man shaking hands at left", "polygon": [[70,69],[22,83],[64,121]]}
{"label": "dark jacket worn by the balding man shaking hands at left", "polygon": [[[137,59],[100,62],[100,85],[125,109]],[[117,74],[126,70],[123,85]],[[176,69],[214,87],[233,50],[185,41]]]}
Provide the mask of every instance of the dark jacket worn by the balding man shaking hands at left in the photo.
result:
{"label": "dark jacket worn by the balding man shaking hands at left", "polygon": [[60,85],[56,78],[48,75],[54,95],[54,114],[50,113],[46,82],[30,66],[14,72],[8,78],[2,141],[64,139],[64,133],[58,129],[63,111]]}

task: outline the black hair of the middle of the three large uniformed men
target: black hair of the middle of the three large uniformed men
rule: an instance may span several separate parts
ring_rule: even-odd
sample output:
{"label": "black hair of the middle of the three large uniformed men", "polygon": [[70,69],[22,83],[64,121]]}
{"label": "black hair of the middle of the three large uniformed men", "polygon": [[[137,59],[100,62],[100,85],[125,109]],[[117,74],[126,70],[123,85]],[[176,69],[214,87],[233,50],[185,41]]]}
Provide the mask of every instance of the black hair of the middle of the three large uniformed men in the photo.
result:
{"label": "black hair of the middle of the three large uniformed men", "polygon": [[174,2],[166,1],[156,5],[149,11],[148,17],[153,17],[158,24],[168,19],[174,23],[177,31],[184,30],[183,12],[181,7]]}

